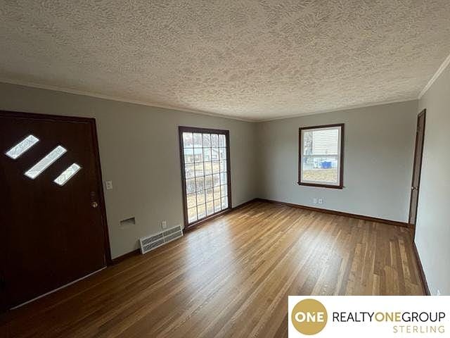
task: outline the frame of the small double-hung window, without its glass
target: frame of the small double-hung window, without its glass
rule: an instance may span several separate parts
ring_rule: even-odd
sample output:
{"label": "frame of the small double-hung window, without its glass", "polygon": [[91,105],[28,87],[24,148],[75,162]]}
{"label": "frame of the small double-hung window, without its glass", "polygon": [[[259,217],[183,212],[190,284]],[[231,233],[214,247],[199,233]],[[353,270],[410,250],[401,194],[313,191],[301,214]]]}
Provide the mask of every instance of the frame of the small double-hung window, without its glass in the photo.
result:
{"label": "frame of the small double-hung window, without its glass", "polygon": [[[335,125],[318,125],[314,127],[300,127],[299,128],[299,168],[298,168],[298,184],[306,185],[311,187],[327,187],[342,189],[343,188],[343,156],[344,156],[344,124]],[[330,154],[314,154],[314,155],[304,155],[304,132],[315,132],[318,130],[338,130],[338,155]],[[313,180],[303,180],[303,159],[304,157],[335,157],[338,163],[338,182],[327,182],[327,181],[313,181]]]}

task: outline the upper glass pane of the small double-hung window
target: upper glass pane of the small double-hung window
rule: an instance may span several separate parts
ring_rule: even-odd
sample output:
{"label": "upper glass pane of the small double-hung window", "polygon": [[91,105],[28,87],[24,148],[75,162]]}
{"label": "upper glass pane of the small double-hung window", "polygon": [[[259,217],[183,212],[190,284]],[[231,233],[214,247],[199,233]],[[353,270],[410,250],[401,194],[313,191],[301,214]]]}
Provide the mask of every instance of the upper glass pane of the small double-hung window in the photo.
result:
{"label": "upper glass pane of the small double-hung window", "polygon": [[303,155],[338,155],[339,130],[304,130]]}

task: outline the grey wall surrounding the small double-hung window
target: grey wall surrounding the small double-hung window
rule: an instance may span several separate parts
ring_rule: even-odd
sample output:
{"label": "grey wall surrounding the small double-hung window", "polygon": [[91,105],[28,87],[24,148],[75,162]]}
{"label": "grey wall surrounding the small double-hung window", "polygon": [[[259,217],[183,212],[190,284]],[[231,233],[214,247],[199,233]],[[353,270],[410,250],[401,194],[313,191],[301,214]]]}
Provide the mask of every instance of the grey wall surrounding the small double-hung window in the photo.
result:
{"label": "grey wall surrounding the small double-hung window", "polygon": [[[259,123],[259,196],[406,222],[418,101]],[[298,128],[345,123],[345,188],[297,184]],[[323,205],[314,205],[314,197]]]}

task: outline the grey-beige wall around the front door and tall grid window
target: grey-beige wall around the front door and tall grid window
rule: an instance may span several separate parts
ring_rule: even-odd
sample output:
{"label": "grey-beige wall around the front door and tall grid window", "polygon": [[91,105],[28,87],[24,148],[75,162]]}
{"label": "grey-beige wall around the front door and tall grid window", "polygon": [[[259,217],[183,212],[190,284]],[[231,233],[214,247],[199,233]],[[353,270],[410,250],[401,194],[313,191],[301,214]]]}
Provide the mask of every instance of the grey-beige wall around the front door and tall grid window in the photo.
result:
{"label": "grey-beige wall around the front door and tall grid window", "polygon": [[[233,206],[255,195],[252,123],[89,96],[0,83],[0,109],[96,118],[113,258],[138,247],[139,237],[183,223],[178,126],[230,131]],[[136,225],[120,229],[120,220]]]}

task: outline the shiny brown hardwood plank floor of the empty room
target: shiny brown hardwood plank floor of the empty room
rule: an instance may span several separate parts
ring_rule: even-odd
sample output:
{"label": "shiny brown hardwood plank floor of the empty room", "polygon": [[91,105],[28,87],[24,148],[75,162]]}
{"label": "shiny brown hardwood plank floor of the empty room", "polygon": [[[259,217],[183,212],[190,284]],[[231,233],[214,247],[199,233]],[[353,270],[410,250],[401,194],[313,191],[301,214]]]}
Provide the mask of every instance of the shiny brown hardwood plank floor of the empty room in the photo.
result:
{"label": "shiny brown hardwood plank floor of the empty room", "polygon": [[2,315],[0,332],[287,337],[295,294],[423,294],[409,230],[255,202]]}

